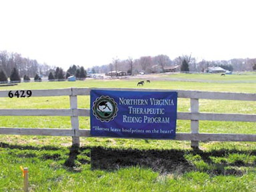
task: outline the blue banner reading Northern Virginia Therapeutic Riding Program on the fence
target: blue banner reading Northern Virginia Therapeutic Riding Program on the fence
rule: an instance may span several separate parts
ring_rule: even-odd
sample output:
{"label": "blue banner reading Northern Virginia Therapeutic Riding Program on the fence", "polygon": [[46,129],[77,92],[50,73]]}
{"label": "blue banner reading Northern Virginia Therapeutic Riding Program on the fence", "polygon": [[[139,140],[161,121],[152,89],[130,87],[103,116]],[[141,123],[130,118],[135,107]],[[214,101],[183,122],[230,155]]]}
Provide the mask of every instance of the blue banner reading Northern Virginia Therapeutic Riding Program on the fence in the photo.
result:
{"label": "blue banner reading Northern Virginia Therapeutic Riding Program on the fence", "polygon": [[175,137],[177,92],[91,90],[91,135]]}

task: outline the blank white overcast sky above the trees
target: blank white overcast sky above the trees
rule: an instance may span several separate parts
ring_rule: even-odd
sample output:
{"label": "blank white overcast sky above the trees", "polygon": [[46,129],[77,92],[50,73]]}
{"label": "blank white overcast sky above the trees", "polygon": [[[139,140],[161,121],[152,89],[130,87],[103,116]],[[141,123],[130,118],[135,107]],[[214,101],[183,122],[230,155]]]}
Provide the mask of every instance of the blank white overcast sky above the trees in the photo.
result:
{"label": "blank white overcast sky above the trees", "polygon": [[251,0],[1,0],[0,50],[68,69],[118,57],[256,58]]}

